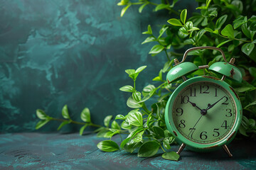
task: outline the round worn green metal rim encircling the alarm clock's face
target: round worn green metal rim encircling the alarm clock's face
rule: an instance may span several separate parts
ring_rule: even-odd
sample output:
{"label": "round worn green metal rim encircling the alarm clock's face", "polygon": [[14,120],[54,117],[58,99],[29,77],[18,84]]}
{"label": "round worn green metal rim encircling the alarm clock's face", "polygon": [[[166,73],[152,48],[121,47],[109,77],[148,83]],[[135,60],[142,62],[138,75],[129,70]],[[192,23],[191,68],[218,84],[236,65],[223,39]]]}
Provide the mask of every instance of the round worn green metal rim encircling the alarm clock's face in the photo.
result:
{"label": "round worn green metal rim encircling the alarm clock's face", "polygon": [[[228,132],[228,135],[225,135],[222,139],[208,143],[208,144],[200,144],[197,142],[193,142],[191,140],[188,140],[186,137],[184,137],[180,132],[178,132],[175,123],[172,119],[172,108],[174,105],[174,100],[176,96],[184,89],[186,86],[189,86],[193,83],[200,82],[200,81],[209,81],[215,84],[218,84],[219,86],[222,86],[223,89],[228,91],[230,96],[234,99],[235,101],[235,108],[236,108],[236,119],[233,125],[233,128]],[[171,112],[171,118],[169,118],[169,112]],[[184,143],[186,144],[188,149],[191,149],[193,151],[203,151],[203,150],[213,150],[218,147],[221,147],[223,145],[228,145],[229,142],[233,140],[235,137],[236,132],[238,132],[238,129],[240,127],[240,123],[242,120],[242,105],[240,103],[240,99],[238,97],[238,94],[235,93],[233,88],[227,84],[225,81],[221,81],[220,79],[216,77],[209,77],[209,76],[199,76],[199,77],[193,77],[191,79],[188,79],[184,81],[180,86],[178,86],[175,91],[171,94],[169,100],[166,103],[166,110],[165,110],[165,121],[166,121],[166,127],[171,132],[174,137],[176,137],[176,140],[178,143]]]}

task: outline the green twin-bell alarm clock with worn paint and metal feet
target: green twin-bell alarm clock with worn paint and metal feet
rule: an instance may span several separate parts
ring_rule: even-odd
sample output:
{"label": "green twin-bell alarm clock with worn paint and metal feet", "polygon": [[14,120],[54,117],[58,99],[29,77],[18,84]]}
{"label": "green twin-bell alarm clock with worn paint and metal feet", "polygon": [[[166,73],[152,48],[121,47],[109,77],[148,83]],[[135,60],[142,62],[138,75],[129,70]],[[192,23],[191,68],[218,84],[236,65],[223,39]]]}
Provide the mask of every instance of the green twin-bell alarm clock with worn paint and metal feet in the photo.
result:
{"label": "green twin-bell alarm clock with worn paint and metal feet", "polygon": [[[221,52],[225,62],[215,62],[196,67],[192,62],[184,62],[188,52],[210,49]],[[242,120],[242,106],[238,94],[223,81],[226,77],[241,82],[242,74],[235,67],[235,59],[225,59],[223,50],[217,47],[193,47],[188,49],[183,60],[175,59],[174,67],[168,72],[168,83],[183,79],[171,94],[166,104],[165,120],[167,129],[181,144],[178,154],[184,147],[196,152],[208,152],[223,147],[230,157],[228,143],[233,140]],[[209,69],[222,74],[222,79],[198,76],[186,79],[186,75],[198,69]]]}

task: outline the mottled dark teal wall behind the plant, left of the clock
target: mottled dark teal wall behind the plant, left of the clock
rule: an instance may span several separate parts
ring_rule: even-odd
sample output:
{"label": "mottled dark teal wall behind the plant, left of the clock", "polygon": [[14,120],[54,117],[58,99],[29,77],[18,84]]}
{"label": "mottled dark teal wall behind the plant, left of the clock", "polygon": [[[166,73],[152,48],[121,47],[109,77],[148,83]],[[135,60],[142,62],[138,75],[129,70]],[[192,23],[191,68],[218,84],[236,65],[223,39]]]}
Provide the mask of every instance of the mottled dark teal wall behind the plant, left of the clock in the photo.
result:
{"label": "mottled dark teal wall behind the plant, left of the clock", "polygon": [[[124,69],[148,65],[138,89],[152,82],[165,56],[147,55],[152,44],[141,45],[146,38],[141,33],[167,18],[139,14],[133,6],[120,18],[117,2],[1,0],[0,132],[34,130],[37,108],[60,118],[68,104],[71,117],[80,120],[80,111],[88,107],[100,124],[106,115],[129,111],[129,96],[119,91],[132,84]],[[42,130],[58,125],[50,122]]]}

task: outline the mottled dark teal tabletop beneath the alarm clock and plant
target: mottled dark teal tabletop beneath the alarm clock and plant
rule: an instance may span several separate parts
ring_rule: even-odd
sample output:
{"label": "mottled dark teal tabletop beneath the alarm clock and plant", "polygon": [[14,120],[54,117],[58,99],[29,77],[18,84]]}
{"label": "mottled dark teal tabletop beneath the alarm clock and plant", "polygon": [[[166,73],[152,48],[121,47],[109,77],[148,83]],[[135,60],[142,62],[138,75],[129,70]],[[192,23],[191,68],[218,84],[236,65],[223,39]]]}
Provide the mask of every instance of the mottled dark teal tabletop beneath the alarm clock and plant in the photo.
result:
{"label": "mottled dark teal tabletop beneath the alarm clock and plant", "polygon": [[[95,134],[16,133],[0,135],[0,169],[256,169],[254,142],[233,141],[233,158],[219,149],[210,153],[184,150],[178,162],[137,154],[102,152]],[[119,137],[113,137],[116,142]],[[177,150],[172,146],[171,150]]]}

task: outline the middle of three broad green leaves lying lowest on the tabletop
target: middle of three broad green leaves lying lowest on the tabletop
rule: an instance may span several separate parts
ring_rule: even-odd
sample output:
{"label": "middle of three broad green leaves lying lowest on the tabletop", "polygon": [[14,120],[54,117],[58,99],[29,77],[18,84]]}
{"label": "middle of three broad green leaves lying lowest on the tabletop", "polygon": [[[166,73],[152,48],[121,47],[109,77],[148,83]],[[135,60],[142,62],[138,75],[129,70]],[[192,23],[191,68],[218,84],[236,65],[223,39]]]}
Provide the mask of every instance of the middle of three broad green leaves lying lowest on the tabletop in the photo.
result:
{"label": "middle of three broad green leaves lying lowest on the tabletop", "polygon": [[138,157],[152,157],[158,152],[159,147],[159,142],[156,140],[145,142],[139,147]]}

